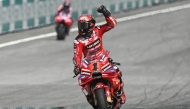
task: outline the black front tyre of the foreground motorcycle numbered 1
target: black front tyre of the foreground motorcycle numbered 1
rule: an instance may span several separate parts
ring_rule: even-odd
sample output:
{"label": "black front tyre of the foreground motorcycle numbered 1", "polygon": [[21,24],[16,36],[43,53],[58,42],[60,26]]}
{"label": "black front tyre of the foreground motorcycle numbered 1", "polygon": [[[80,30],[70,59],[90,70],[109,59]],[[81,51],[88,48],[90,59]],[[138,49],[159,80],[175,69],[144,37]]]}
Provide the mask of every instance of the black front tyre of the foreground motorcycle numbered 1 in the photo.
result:
{"label": "black front tyre of the foreground motorcycle numbered 1", "polygon": [[107,109],[107,100],[104,89],[97,89],[95,91],[98,109]]}

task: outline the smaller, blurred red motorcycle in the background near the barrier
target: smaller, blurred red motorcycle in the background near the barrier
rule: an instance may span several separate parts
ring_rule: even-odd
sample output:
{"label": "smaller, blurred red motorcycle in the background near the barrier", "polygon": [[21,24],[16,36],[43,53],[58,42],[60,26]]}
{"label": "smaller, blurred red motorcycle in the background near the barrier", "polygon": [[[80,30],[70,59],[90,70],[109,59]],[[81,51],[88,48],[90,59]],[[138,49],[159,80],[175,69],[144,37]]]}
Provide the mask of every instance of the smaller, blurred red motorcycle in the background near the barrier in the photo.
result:
{"label": "smaller, blurred red motorcycle in the background near the barrier", "polygon": [[55,16],[57,40],[64,40],[68,34],[68,29],[72,25],[72,19],[67,18],[66,14],[60,12]]}

